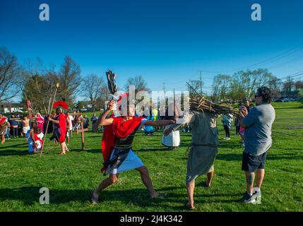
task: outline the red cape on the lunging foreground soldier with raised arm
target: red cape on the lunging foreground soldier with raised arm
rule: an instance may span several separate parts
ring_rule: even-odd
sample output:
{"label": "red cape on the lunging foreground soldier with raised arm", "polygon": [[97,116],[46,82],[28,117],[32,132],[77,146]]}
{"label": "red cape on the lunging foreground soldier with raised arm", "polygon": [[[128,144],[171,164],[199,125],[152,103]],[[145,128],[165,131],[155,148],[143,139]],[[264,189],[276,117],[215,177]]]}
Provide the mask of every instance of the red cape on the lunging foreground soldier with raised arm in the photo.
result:
{"label": "red cape on the lunging foreground soldier with raised arm", "polygon": [[[109,160],[112,155],[115,138],[126,138],[131,134],[140,124],[143,117],[133,117],[127,121],[123,121],[122,117],[113,117],[114,121],[111,125],[105,126],[102,137],[102,155],[104,162]],[[102,168],[105,171],[105,167]]]}

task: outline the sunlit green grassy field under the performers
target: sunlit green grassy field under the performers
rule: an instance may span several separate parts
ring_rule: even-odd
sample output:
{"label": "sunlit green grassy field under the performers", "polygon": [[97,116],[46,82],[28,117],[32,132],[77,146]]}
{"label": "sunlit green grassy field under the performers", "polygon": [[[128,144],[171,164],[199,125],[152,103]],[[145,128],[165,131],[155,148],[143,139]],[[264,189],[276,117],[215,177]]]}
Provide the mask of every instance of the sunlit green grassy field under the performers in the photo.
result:
{"label": "sunlit green grassy field under the performers", "polygon": [[[222,125],[220,148],[215,160],[212,187],[196,181],[196,211],[303,211],[303,105],[298,102],[274,104],[273,147],[268,153],[262,205],[237,203],[245,191],[241,171],[242,147],[239,136],[225,141]],[[105,178],[102,167],[102,133],[86,133],[90,150],[81,151],[81,135],[71,139],[70,152],[57,156],[59,146],[46,142],[40,159],[29,155],[24,138],[0,146],[0,211],[184,211],[186,189],[186,148],[190,133],[182,133],[177,150],[160,144],[162,132],[144,136],[139,132],[133,149],[145,162],[155,188],[166,198],[150,200],[138,172],[120,175],[119,181],[100,195],[101,202],[90,206],[90,193]],[[40,205],[39,190],[49,189],[50,204]]]}

